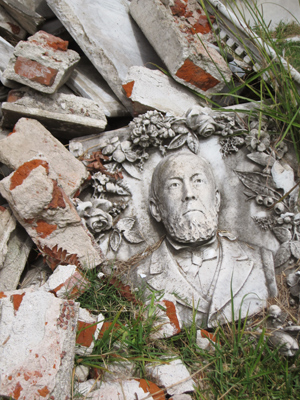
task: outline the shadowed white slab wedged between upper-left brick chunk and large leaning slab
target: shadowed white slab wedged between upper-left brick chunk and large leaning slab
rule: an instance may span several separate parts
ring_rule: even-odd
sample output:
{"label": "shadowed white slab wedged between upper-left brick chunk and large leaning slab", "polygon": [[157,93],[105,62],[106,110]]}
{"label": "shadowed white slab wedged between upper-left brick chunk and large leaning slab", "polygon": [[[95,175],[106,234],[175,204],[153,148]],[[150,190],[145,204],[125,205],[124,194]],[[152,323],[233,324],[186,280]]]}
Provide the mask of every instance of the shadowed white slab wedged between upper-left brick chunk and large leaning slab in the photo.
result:
{"label": "shadowed white slab wedged between upper-left brick chunk and large leaning slab", "polygon": [[82,56],[66,84],[82,97],[100,105],[107,117],[123,117],[129,112],[88,58]]}

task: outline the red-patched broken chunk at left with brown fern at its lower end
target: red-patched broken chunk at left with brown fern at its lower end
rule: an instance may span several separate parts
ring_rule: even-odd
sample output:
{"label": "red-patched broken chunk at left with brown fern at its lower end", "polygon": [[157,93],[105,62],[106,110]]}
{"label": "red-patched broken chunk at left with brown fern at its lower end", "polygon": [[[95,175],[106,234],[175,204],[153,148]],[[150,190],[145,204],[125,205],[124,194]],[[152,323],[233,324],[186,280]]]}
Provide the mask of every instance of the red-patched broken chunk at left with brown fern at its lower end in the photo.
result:
{"label": "red-patched broken chunk at left with brown fern at its lower end", "polygon": [[44,158],[27,161],[4,178],[0,193],[52,270],[59,264],[90,269],[103,261],[101,250]]}

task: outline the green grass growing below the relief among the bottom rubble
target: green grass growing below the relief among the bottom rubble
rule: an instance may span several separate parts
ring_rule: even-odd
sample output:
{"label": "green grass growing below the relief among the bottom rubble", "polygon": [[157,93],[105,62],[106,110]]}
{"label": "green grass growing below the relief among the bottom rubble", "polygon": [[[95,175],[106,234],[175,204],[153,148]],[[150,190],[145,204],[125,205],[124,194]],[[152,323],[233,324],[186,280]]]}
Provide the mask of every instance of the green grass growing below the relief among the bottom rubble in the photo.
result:
{"label": "green grass growing below the relief among the bottom rubble", "polygon": [[110,363],[129,361],[135,365],[135,377],[147,378],[147,363],[175,357],[193,374],[197,384],[193,399],[299,398],[299,357],[287,359],[269,345],[262,319],[218,327],[211,352],[198,347],[194,322],[176,336],[154,340],[158,294],[157,299],[152,294],[147,305],[140,299],[132,302],[120,295],[109,279],[101,283],[96,272],[88,271],[87,278],[91,287],[78,299],[81,307],[95,314],[102,312],[112,325],[95,341],[92,355],[76,356],[77,365],[106,371]]}

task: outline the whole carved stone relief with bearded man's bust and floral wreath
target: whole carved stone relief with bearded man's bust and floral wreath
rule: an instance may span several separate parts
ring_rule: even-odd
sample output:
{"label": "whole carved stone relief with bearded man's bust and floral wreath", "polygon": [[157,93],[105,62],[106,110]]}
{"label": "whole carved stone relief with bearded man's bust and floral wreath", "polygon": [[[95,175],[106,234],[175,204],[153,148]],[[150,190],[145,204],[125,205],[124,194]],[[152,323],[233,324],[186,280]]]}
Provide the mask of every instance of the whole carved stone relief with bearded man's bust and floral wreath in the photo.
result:
{"label": "whole carved stone relief with bearded man's bust and floral wreath", "polygon": [[273,129],[200,106],[184,118],[148,111],[82,151],[87,228],[108,259],[135,256],[123,279],[175,295],[186,323],[193,308],[202,326],[260,311],[276,295],[275,267],[300,258],[296,163]]}

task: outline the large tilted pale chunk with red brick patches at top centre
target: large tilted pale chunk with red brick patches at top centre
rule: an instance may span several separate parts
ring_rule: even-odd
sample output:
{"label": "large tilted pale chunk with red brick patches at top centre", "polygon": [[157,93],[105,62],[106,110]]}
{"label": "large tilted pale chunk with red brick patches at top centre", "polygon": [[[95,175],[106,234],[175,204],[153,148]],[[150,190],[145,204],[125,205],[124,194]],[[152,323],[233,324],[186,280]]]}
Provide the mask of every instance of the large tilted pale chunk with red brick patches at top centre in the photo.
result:
{"label": "large tilted pale chunk with red brick patches at top centre", "polygon": [[130,13],[175,80],[208,97],[230,80],[225,60],[207,48],[211,28],[196,0],[132,0]]}

